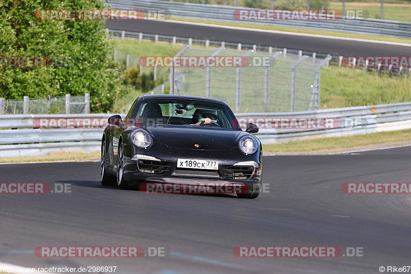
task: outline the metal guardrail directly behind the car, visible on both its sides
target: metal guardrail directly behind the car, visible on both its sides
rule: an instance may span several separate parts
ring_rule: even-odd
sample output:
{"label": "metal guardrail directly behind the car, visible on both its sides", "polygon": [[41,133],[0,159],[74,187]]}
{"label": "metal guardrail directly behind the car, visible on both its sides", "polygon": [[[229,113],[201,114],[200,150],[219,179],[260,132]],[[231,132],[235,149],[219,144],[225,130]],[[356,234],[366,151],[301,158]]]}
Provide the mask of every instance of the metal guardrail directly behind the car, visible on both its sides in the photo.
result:
{"label": "metal guardrail directly behind the car, visible on both its sides", "polygon": [[[60,151],[100,150],[103,127],[111,114],[88,115],[0,115],[0,157],[42,155]],[[124,115],[122,115],[124,117]],[[237,119],[246,119],[259,125],[256,137],[263,143],[281,143],[317,137],[357,135],[382,131],[411,129],[411,102],[383,104],[375,106],[356,106],[320,109],[319,111],[294,113],[238,113]],[[273,127],[272,121],[287,118],[340,119],[340,121],[361,120],[361,125],[341,124],[331,129],[304,129]],[[54,119],[59,126],[70,124],[73,128],[43,129],[39,119]],[[71,119],[71,120],[70,120]],[[81,119],[95,120],[87,125],[97,127],[83,128]],[[270,122],[268,122],[268,120]],[[104,123],[102,122],[104,121]],[[83,124],[84,125],[84,124]],[[78,126],[78,127],[76,127]],[[16,130],[10,130],[14,128]]]}

